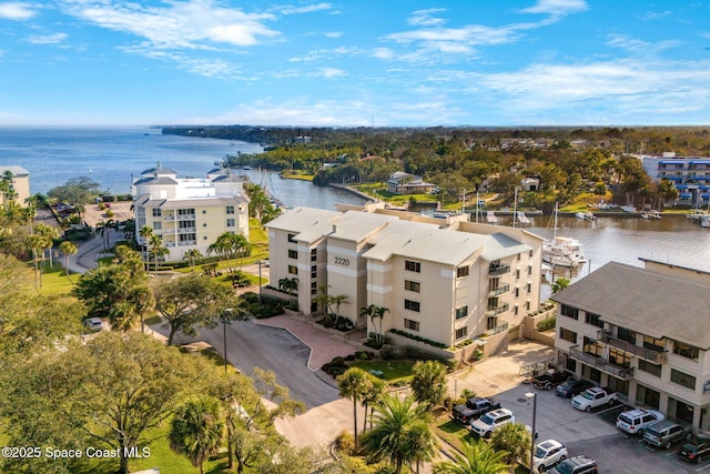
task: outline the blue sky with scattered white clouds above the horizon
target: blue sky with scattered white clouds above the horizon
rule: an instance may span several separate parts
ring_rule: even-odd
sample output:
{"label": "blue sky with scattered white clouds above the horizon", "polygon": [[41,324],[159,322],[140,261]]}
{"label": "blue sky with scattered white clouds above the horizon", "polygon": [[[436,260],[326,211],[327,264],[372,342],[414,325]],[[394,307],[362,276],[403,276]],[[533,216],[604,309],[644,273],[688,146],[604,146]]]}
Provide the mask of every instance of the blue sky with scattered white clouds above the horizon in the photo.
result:
{"label": "blue sky with scattered white clouds above the horizon", "polygon": [[0,0],[0,124],[707,124],[710,2]]}

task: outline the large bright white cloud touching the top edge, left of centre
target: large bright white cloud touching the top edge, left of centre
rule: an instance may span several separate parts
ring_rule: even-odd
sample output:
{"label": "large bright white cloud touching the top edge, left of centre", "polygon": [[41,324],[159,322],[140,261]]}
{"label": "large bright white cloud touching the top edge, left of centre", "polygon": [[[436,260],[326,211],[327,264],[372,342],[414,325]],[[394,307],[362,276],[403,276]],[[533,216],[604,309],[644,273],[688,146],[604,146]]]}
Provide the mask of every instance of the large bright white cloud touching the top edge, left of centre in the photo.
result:
{"label": "large bright white cloud touching the top edge, left of centre", "polygon": [[68,12],[101,28],[144,38],[155,48],[213,49],[213,43],[246,47],[278,37],[266,13],[245,13],[212,0],[166,2],[169,7],[65,0]]}

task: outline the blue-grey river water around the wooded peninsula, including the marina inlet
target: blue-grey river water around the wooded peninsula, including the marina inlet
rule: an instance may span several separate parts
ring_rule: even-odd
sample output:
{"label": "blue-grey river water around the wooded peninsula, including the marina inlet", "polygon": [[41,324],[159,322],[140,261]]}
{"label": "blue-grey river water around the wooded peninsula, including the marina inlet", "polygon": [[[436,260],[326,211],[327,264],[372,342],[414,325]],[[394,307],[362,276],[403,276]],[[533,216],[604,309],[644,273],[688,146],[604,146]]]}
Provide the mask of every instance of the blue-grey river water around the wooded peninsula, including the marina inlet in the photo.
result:
{"label": "blue-grey river water around the wooded peninsula, including the marina inlet", "polygon": [[[20,165],[30,172],[32,193],[47,193],[69,179],[89,177],[100,189],[128,193],[132,175],[158,162],[181,178],[203,177],[227,154],[256,153],[256,143],[163,135],[160,129],[133,128],[0,128],[0,164]],[[334,210],[336,203],[362,204],[352,193],[318,188],[307,181],[284,180],[276,172],[235,170],[247,174],[286,206]],[[500,218],[501,225],[511,220]],[[545,239],[554,234],[549,216],[532,218],[526,226]],[[581,241],[587,258],[571,271],[558,269],[572,281],[610,261],[642,266],[639,258],[710,271],[710,229],[684,218],[660,221],[636,218],[599,218],[582,221],[558,219],[558,235]]]}

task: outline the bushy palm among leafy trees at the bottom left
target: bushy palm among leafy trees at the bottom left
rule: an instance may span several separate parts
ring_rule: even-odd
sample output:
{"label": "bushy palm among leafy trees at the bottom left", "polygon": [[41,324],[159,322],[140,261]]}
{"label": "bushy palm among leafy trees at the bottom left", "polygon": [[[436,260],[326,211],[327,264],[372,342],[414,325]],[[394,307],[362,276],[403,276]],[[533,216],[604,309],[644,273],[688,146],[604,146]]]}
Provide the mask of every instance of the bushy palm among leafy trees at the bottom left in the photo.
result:
{"label": "bushy palm among leafy trees at the bottom left", "polygon": [[204,460],[219,451],[224,438],[220,401],[201,395],[185,402],[175,412],[168,438],[173,451],[204,474]]}

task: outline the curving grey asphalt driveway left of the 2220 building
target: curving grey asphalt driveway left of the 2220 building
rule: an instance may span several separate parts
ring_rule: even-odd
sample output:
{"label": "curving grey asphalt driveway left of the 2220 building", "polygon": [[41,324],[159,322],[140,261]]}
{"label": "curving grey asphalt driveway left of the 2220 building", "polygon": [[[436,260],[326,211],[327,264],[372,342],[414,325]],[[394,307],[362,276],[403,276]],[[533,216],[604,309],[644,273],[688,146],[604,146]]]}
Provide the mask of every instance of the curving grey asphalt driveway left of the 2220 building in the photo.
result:
{"label": "curving grey asphalt driveway left of the 2220 building", "polygon": [[[164,327],[153,329],[166,333]],[[224,353],[221,323],[215,329],[201,330],[196,340],[206,341],[220,354]],[[180,337],[175,342],[193,341]],[[273,371],[277,383],[288,387],[291,397],[304,402],[308,409],[338,399],[336,389],[306,367],[310,349],[283,329],[255,324],[251,320],[233,321],[226,326],[226,352],[227,361],[250,376],[253,376],[253,367]]]}

